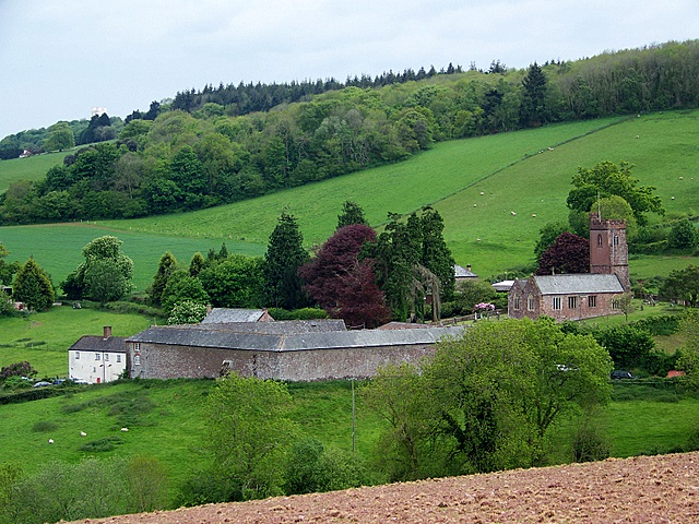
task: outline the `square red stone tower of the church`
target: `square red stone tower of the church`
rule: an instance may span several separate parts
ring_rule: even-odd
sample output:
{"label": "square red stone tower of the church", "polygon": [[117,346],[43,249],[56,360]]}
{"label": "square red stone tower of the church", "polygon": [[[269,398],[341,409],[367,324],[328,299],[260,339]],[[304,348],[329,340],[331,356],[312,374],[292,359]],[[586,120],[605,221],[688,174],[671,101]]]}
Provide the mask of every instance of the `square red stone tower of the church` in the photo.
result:
{"label": "square red stone tower of the church", "polygon": [[605,221],[597,213],[590,214],[590,273],[616,274],[624,289],[631,289],[625,221]]}

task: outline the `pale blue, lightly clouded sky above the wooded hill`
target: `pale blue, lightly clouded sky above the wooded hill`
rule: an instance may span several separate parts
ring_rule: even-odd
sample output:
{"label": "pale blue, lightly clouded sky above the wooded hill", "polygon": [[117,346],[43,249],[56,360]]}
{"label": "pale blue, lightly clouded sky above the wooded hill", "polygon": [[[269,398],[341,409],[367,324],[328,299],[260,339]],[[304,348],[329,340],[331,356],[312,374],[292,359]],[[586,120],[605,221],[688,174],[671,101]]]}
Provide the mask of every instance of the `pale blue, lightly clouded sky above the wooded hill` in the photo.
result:
{"label": "pale blue, lightly clouded sky above the wooded hill", "polygon": [[0,139],[206,84],[526,68],[695,38],[697,0],[0,0]]}

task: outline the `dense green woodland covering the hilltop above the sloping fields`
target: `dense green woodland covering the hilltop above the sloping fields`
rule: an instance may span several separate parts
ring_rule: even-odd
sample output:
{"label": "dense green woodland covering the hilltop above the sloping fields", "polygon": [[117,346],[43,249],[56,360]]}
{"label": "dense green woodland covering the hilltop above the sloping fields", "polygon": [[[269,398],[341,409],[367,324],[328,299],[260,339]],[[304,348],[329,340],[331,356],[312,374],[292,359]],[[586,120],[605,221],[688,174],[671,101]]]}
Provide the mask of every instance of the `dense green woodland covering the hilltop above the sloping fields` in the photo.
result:
{"label": "dense green woodland covering the hilltop above the sloping fields", "polygon": [[[10,187],[0,219],[198,210],[399,162],[439,141],[699,102],[699,40],[526,70],[495,66],[306,94],[247,115],[238,115],[249,109],[240,86],[180,93],[131,115],[117,142],[78,151],[39,182]],[[279,102],[273,93],[269,104]]]}

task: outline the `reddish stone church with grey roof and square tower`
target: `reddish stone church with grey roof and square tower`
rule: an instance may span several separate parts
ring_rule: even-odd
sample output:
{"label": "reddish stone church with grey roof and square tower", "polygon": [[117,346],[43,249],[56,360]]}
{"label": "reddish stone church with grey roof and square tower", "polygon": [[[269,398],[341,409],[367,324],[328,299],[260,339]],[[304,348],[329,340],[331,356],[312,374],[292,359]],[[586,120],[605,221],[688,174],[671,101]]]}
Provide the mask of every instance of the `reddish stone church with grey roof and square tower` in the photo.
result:
{"label": "reddish stone church with grey roof and square tower", "polygon": [[590,216],[590,273],[534,275],[519,279],[508,296],[514,319],[545,314],[557,321],[621,313],[619,298],[630,291],[624,221]]}

